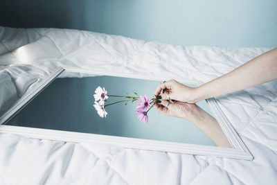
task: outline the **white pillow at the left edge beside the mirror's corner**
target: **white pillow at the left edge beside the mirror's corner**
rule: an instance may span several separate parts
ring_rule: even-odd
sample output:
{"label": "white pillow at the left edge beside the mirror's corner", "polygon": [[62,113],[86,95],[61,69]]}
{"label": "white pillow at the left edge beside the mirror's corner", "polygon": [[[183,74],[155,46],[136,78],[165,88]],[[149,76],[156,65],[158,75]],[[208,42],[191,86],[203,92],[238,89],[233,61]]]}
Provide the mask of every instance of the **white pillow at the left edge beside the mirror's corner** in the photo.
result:
{"label": "white pillow at the left edge beside the mirror's corner", "polygon": [[0,114],[18,100],[17,89],[4,70],[0,71]]}

